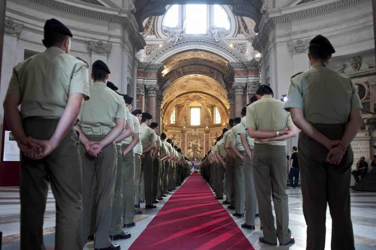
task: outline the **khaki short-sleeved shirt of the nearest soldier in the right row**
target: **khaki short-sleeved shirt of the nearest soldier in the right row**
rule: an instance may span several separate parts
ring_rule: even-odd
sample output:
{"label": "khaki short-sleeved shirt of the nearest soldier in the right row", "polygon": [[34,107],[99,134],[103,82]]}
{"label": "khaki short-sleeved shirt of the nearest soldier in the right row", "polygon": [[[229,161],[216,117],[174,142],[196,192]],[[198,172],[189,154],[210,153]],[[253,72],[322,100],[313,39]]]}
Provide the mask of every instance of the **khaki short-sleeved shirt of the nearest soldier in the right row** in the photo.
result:
{"label": "khaki short-sleeved shirt of the nearest soldier in the right row", "polygon": [[285,109],[303,109],[310,123],[345,124],[362,104],[350,77],[321,62],[291,78]]}

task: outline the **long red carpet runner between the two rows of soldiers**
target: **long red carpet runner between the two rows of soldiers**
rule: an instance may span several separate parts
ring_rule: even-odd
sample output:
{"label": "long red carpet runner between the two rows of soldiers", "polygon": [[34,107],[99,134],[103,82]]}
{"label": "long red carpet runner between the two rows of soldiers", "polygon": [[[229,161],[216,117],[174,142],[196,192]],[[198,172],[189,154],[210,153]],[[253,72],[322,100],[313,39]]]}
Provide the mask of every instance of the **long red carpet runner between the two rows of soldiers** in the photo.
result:
{"label": "long red carpet runner between the two rows of soldiers", "polygon": [[254,250],[197,173],[170,197],[129,249]]}

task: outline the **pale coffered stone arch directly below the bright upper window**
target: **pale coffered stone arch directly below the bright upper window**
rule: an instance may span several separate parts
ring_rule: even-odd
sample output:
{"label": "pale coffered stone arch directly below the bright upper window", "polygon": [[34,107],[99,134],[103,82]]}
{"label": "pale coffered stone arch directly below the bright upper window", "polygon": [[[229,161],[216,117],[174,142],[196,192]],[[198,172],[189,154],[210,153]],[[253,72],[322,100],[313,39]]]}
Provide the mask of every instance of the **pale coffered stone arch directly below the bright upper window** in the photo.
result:
{"label": "pale coffered stone arch directly below the bright upper window", "polygon": [[162,47],[154,50],[146,58],[145,62],[162,63],[171,56],[188,50],[207,51],[220,56],[228,62],[246,60],[240,52],[224,42],[216,42],[208,36],[185,36],[176,43],[167,42]]}

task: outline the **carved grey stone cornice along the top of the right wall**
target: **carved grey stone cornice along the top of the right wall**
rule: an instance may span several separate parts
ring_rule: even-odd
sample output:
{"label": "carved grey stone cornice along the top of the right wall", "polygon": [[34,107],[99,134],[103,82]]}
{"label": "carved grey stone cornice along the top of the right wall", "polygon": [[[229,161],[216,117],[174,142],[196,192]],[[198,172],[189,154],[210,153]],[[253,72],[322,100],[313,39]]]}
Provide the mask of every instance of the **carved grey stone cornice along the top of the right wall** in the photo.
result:
{"label": "carved grey stone cornice along the top of the right wall", "polygon": [[[324,13],[328,12],[334,12],[338,11],[340,9],[349,8],[352,5],[359,4],[361,2],[364,2],[367,0],[341,0],[338,2],[333,2],[321,6],[316,6],[314,8],[310,8],[310,5],[306,5],[306,9],[301,10],[302,5],[294,6],[296,9],[300,9],[300,11],[287,13],[287,14],[281,14],[276,17],[270,17],[270,13],[275,14],[275,12],[281,13],[281,9],[270,9],[267,10],[265,15],[261,18],[260,24],[259,24],[259,33],[256,35],[255,40],[252,43],[252,47],[255,50],[260,51],[263,47],[263,45],[268,41],[268,36],[270,33],[270,29],[275,25],[279,23],[286,23],[293,20],[299,20],[304,19],[308,17],[314,17],[318,15],[322,15]],[[290,7],[290,10],[291,9]]]}

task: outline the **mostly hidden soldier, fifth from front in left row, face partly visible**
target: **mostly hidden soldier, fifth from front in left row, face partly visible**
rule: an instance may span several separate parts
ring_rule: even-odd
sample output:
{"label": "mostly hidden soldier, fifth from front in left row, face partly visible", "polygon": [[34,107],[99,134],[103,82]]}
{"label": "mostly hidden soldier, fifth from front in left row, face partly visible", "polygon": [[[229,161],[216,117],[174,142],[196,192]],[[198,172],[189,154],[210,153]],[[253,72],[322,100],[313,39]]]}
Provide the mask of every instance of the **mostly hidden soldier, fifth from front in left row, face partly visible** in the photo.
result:
{"label": "mostly hidden soldier, fifth from front in left row, face partly visible", "polygon": [[[142,111],[141,109],[135,109],[132,111],[132,115],[134,115],[138,123],[141,123],[142,118]],[[133,123],[134,124],[134,123]],[[135,125],[133,125],[135,126]],[[136,126],[135,126],[136,127]],[[141,135],[141,130],[138,129],[139,135]],[[139,136],[140,138],[141,136]],[[133,148],[133,152],[135,153],[135,179],[134,179],[134,199],[135,199],[135,214],[142,214],[140,208],[140,182],[141,182],[141,155],[142,155],[142,144],[141,139],[138,139],[137,144]]]}

